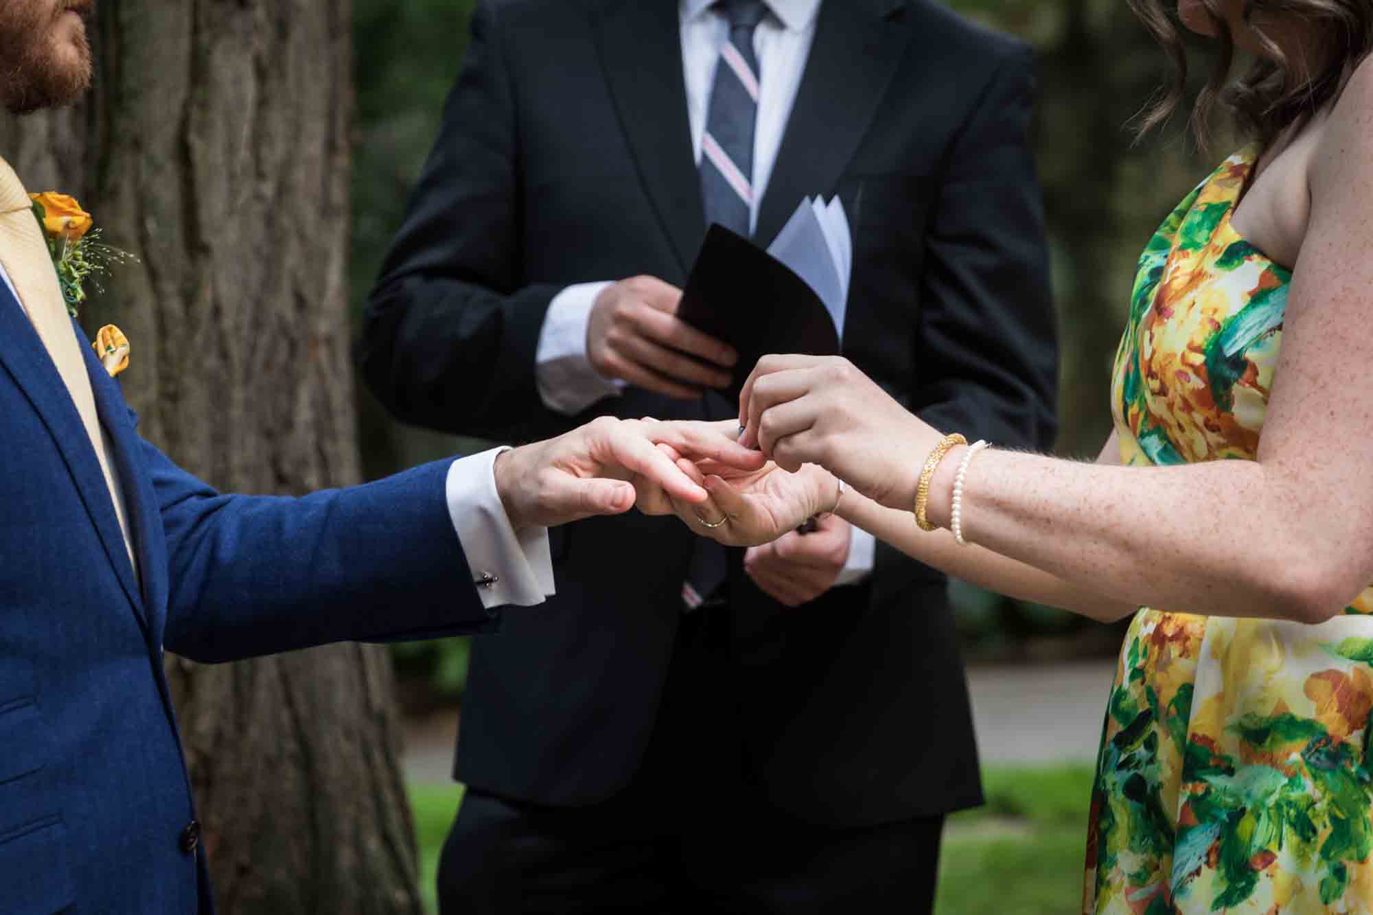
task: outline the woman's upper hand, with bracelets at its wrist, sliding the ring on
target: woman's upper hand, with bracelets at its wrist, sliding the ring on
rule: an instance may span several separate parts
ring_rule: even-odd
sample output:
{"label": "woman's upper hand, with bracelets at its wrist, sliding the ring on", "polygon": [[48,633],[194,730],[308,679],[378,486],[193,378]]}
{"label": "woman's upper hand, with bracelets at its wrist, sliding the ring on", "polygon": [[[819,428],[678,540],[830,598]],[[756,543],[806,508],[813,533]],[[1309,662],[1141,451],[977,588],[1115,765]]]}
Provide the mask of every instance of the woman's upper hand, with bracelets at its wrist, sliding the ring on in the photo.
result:
{"label": "woman's upper hand, with bracelets at its wrist, sliding the ring on", "polygon": [[838,356],[765,356],[739,398],[740,444],[785,470],[822,466],[876,503],[910,511],[943,436]]}

